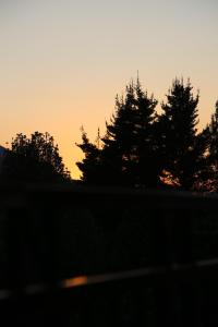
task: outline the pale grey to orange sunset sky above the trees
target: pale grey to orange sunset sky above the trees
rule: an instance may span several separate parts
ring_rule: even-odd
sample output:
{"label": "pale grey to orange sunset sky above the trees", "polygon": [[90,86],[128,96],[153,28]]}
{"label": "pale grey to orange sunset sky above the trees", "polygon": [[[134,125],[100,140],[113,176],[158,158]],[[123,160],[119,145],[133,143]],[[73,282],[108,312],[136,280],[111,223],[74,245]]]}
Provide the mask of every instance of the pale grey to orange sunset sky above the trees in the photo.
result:
{"label": "pale grey to orange sunset sky above the trees", "polygon": [[49,132],[77,179],[90,141],[137,71],[159,100],[174,77],[199,89],[199,128],[218,98],[217,0],[0,0],[0,144]]}

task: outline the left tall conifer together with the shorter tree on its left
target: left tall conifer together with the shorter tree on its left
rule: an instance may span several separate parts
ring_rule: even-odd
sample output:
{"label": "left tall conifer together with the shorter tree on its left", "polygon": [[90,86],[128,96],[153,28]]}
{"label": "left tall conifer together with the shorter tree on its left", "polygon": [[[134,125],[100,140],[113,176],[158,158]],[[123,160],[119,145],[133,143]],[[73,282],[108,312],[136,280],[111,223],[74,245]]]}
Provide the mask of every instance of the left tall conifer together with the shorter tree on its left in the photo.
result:
{"label": "left tall conifer together with the shorter tree on its left", "polygon": [[[143,92],[140,80],[131,82],[124,97],[116,98],[116,112],[106,123],[101,147],[83,132],[78,146],[85,159],[77,162],[83,180],[90,183],[156,186],[160,171],[157,100]],[[99,140],[99,137],[98,137]]]}

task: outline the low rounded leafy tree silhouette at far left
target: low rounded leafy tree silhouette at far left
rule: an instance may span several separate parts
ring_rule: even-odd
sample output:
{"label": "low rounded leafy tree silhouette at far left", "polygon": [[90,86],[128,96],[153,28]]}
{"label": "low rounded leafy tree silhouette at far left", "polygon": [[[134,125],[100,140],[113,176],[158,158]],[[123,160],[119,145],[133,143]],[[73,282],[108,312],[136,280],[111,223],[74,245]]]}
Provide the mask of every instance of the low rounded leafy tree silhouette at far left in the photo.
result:
{"label": "low rounded leafy tree silhouette at far left", "polygon": [[1,174],[4,179],[20,181],[70,180],[53,137],[39,132],[33,133],[29,138],[22,133],[16,134]]}

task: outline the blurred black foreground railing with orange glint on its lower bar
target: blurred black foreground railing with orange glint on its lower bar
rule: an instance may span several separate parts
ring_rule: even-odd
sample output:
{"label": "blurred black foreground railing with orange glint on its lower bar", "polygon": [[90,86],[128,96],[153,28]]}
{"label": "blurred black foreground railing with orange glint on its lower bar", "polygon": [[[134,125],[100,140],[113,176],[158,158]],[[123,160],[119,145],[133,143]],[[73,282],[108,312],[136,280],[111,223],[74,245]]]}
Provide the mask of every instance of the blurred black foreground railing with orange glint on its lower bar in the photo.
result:
{"label": "blurred black foreground railing with orange glint on its lower bar", "polygon": [[2,326],[215,326],[218,197],[0,186]]}

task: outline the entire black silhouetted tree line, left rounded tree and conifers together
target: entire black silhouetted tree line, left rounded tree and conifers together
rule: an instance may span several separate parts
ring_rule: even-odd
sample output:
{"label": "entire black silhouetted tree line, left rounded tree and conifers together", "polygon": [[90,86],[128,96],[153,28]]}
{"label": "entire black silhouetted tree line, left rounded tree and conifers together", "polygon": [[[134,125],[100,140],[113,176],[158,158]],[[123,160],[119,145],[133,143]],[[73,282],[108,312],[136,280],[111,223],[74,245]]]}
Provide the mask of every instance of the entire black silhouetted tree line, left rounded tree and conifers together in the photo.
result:
{"label": "entire black silhouetted tree line, left rounded tree and conifers together", "polygon": [[[116,97],[106,133],[92,143],[82,129],[76,144],[84,159],[76,162],[84,184],[131,187],[218,190],[218,101],[210,122],[198,131],[199,94],[187,80],[175,78],[161,102],[144,90],[140,78]],[[70,182],[70,172],[49,133],[20,133],[1,165],[1,179]]]}

